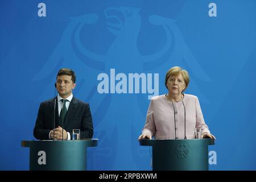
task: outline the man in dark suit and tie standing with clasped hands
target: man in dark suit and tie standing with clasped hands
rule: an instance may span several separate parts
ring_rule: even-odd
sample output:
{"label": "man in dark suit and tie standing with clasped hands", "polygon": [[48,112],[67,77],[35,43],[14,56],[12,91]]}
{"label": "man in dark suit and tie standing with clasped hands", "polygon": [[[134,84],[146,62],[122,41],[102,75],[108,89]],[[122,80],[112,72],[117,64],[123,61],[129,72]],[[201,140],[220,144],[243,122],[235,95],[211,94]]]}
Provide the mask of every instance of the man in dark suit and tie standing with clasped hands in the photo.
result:
{"label": "man in dark suit and tie standing with clasped hands", "polygon": [[[80,137],[92,138],[93,123],[89,104],[73,97],[72,90],[76,87],[76,75],[68,68],[57,73],[55,87],[57,97],[40,104],[38,117],[34,127],[36,139],[56,140],[72,139],[73,129],[80,129]],[[54,114],[55,110],[55,114]],[[55,115],[55,131],[53,132],[53,115]]]}

